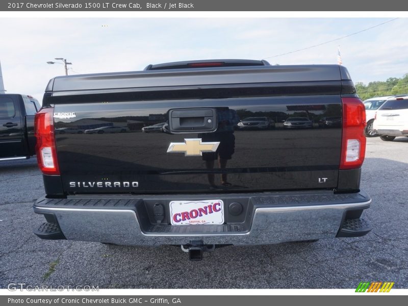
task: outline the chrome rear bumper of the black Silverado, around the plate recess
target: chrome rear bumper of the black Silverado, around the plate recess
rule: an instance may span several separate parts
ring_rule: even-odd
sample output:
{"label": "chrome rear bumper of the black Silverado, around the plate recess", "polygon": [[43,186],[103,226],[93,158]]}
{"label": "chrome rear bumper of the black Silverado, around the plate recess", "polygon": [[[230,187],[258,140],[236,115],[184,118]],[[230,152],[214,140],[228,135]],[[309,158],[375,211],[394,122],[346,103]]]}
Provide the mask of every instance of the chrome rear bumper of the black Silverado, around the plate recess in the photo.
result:
{"label": "chrome rear bumper of the black Silverado, around the plate recess", "polygon": [[[208,195],[194,197],[203,198]],[[347,213],[369,208],[371,199],[364,193],[333,194],[333,192],[286,192],[246,197],[252,205],[247,211],[247,226],[159,224],[147,226],[142,215],[144,199],[121,197],[126,205],[86,205],[118,197],[81,197],[39,199],[34,211],[54,219],[66,239],[97,241],[122,245],[188,244],[202,240],[204,244],[261,245],[288,241],[334,238],[338,235]],[[178,196],[177,198],[186,198]],[[217,195],[212,195],[217,198]],[[226,195],[223,197],[228,201]],[[191,198],[191,196],[190,196]],[[85,204],[72,205],[72,200]],[[99,200],[98,200],[99,199]],[[169,201],[171,199],[168,199]],[[78,202],[79,201],[79,202]],[[311,202],[313,201],[313,202]],[[71,204],[69,204],[71,202]],[[108,201],[109,202],[109,201]],[[361,235],[360,235],[361,236]]]}

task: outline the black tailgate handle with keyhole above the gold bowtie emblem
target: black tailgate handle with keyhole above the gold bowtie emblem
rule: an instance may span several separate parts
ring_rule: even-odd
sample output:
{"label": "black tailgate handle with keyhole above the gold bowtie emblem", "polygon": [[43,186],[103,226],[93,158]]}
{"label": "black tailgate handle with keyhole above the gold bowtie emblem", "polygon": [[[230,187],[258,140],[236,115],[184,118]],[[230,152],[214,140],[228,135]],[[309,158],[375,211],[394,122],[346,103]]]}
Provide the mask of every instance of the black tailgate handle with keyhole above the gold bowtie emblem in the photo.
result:
{"label": "black tailgate handle with keyhole above the gold bowtie emblem", "polygon": [[209,108],[170,110],[169,128],[172,133],[213,132],[217,129],[216,110]]}

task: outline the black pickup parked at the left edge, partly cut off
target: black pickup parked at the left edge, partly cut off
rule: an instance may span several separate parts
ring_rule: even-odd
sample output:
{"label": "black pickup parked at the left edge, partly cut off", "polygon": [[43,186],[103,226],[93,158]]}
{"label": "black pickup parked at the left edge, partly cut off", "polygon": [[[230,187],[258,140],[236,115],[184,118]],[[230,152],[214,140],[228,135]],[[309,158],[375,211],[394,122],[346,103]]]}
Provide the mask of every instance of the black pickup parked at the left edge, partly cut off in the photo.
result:
{"label": "black pickup parked at the left edge, partly cut off", "polygon": [[23,94],[0,94],[0,161],[35,155],[34,115],[37,99]]}

